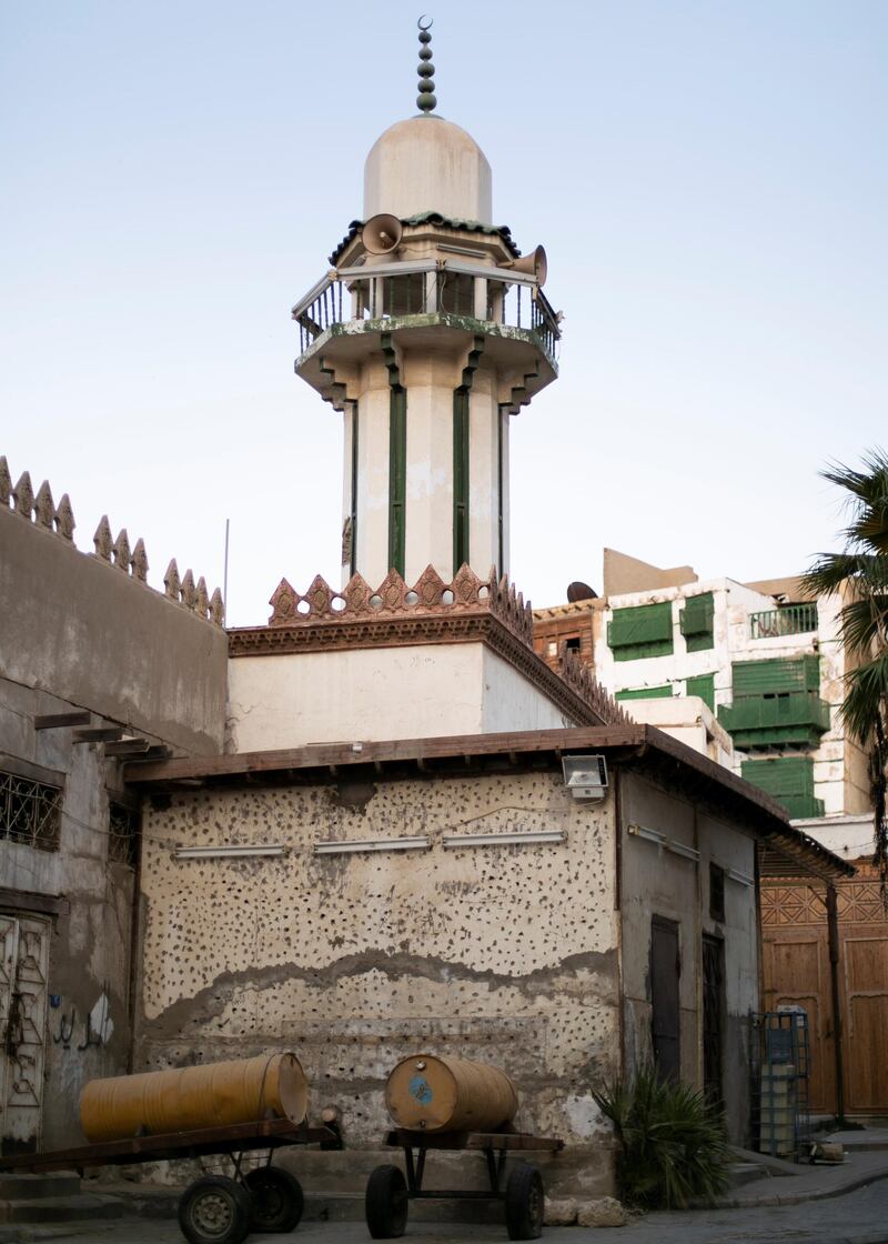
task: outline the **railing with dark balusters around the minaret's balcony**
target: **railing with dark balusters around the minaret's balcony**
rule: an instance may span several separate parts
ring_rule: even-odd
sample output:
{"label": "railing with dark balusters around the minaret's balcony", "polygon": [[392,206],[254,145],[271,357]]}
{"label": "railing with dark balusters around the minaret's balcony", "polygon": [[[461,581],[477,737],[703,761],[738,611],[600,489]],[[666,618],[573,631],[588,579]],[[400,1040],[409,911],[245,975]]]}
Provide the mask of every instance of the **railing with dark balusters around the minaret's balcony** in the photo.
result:
{"label": "railing with dark balusters around the minaret's balcony", "polygon": [[460,260],[331,271],[292,309],[300,355],[333,325],[449,313],[532,332],[555,362],[558,317],[536,277]]}

